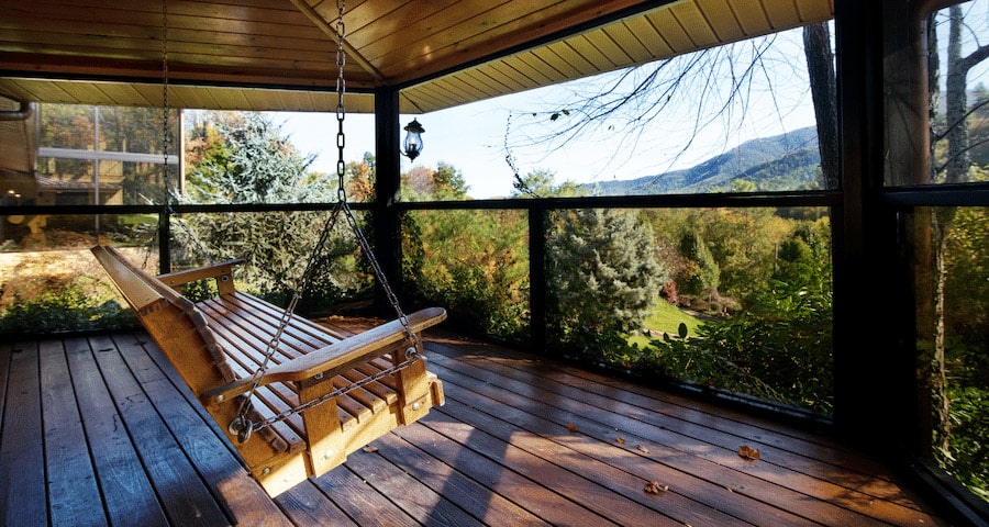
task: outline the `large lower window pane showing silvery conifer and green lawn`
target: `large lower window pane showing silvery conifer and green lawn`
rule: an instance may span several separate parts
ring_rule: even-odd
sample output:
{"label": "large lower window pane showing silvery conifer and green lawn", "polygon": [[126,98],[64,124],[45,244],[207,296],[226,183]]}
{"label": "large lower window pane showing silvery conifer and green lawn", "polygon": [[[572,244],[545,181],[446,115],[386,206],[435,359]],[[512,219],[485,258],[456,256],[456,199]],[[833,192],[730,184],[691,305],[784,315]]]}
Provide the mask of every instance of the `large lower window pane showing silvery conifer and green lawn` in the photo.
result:
{"label": "large lower window pane showing silvery conifer and green lawn", "polygon": [[826,210],[560,211],[546,253],[563,352],[831,412]]}

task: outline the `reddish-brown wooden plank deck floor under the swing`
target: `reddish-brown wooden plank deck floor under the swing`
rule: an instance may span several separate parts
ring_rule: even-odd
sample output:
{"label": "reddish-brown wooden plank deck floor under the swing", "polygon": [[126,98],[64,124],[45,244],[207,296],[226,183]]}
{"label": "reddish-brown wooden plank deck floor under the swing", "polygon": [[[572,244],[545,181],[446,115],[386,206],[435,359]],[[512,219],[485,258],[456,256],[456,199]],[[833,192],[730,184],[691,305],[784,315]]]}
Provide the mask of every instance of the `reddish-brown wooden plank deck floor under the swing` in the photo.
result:
{"label": "reddish-brown wooden plank deck floor under the swing", "polygon": [[0,344],[0,524],[947,525],[826,439],[437,335],[447,404],[275,501],[146,335]]}

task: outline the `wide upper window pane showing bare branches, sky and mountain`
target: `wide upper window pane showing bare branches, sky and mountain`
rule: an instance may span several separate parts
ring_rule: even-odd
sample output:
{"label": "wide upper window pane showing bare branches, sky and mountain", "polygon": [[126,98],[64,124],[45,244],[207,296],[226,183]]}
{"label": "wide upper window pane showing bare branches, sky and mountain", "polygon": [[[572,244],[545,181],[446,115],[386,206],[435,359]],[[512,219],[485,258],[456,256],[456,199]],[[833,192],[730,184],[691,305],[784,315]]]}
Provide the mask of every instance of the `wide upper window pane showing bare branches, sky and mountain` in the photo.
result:
{"label": "wide upper window pane showing bare branches, sky and mountain", "polygon": [[[836,156],[831,24],[807,31],[810,49],[796,29],[418,115],[424,149],[403,168],[402,197],[505,198],[534,177],[589,195],[837,188],[822,172],[808,74],[820,72]],[[457,184],[425,184],[444,167]]]}

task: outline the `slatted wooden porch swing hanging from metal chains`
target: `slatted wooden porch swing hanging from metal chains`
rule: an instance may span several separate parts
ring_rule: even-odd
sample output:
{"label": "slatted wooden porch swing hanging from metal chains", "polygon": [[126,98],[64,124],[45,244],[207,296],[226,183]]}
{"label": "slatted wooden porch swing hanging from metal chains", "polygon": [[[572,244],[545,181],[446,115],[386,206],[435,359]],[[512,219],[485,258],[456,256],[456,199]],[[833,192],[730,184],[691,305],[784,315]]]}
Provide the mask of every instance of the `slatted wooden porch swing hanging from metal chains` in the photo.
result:
{"label": "slatted wooden porch swing hanging from metal chains", "polygon": [[[164,2],[163,2],[164,5]],[[426,371],[421,333],[446,318],[440,307],[405,315],[347,204],[343,161],[343,7],[337,23],[337,203],[288,307],[237,291],[243,260],[152,276],[113,247],[91,250],[155,344],[243,458],[276,496],[399,425],[444,403]],[[164,16],[167,9],[163,7]],[[167,22],[167,18],[165,20]],[[167,40],[166,40],[167,42]],[[165,71],[167,165],[167,47]],[[348,223],[397,317],[346,337],[293,314],[337,218]],[[210,280],[216,295],[193,302],[186,284]]]}

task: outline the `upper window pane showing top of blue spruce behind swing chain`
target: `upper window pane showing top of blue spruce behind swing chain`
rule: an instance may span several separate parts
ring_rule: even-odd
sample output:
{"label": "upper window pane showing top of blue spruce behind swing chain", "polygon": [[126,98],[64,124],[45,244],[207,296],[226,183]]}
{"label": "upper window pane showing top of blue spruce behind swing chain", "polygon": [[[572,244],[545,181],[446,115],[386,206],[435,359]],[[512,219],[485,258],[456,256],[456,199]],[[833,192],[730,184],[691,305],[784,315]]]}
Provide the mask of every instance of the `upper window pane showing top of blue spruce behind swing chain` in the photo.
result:
{"label": "upper window pane showing top of blue spruce behind swing chain", "polygon": [[335,113],[185,112],[184,200],[191,203],[329,203],[337,200],[337,141],[346,191],[371,201],[374,119]]}

